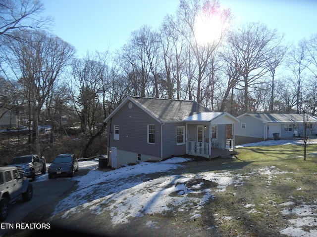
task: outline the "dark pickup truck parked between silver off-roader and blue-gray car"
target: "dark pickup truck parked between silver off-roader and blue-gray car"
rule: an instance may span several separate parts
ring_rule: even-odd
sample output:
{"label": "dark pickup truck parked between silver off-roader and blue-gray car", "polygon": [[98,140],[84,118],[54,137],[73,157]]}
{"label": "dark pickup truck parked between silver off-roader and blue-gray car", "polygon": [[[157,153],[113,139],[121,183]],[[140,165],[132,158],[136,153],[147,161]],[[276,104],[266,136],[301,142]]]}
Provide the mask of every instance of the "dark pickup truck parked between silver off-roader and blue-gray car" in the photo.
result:
{"label": "dark pickup truck parked between silver off-roader and blue-gray car", "polygon": [[46,173],[46,160],[38,155],[25,155],[12,158],[7,166],[15,166],[27,178],[35,180],[37,174]]}

